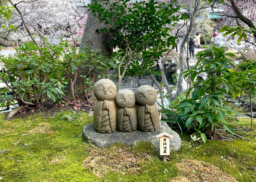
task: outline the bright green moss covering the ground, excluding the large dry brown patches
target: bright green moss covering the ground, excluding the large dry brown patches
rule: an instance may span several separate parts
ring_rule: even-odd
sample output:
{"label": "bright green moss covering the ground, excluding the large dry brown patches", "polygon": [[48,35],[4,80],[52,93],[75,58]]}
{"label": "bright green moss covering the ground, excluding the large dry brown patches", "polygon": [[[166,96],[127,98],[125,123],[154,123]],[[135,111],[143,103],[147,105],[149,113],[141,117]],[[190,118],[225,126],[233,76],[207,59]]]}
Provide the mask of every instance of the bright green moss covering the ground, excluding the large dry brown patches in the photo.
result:
{"label": "bright green moss covering the ground, excluding the large dry brown patches", "polygon": [[[65,111],[64,111],[65,112]],[[68,111],[66,111],[68,112]],[[170,154],[169,162],[162,162],[154,153],[154,148],[147,142],[138,142],[132,150],[138,155],[147,153],[152,160],[141,164],[141,171],[137,175],[109,173],[103,178],[93,174],[91,169],[82,167],[84,159],[91,153],[93,146],[78,137],[84,125],[93,122],[93,117],[82,112],[79,115],[80,123],[67,123],[64,120],[53,120],[47,112],[25,115],[5,121],[6,115],[0,115],[0,151],[10,149],[0,154],[1,182],[44,182],[44,181],[124,181],[124,182],[162,182],[171,181],[179,175],[176,163],[181,159],[196,159],[218,166],[223,172],[236,177],[240,182],[253,182],[255,170],[251,166],[256,163],[256,131],[245,132],[236,130],[238,135],[245,139],[232,139],[233,141],[207,140],[206,144],[195,143],[192,150],[191,142],[182,142],[180,151]],[[248,128],[250,119],[228,120],[233,127]],[[256,120],[254,120],[256,123]],[[49,133],[31,132],[38,128],[40,123],[48,123]],[[45,125],[42,125],[45,126]],[[42,128],[41,128],[42,129]],[[38,130],[36,130],[38,131]],[[40,131],[40,130],[39,130]],[[25,133],[29,135],[21,136]],[[227,134],[230,135],[230,134]],[[184,134],[182,141],[190,141],[190,135]],[[21,139],[21,140],[20,140]],[[17,145],[15,142],[19,141]],[[24,147],[25,144],[29,146]],[[116,143],[116,146],[123,146]],[[106,150],[111,150],[106,149]],[[223,157],[223,158],[222,158]]]}

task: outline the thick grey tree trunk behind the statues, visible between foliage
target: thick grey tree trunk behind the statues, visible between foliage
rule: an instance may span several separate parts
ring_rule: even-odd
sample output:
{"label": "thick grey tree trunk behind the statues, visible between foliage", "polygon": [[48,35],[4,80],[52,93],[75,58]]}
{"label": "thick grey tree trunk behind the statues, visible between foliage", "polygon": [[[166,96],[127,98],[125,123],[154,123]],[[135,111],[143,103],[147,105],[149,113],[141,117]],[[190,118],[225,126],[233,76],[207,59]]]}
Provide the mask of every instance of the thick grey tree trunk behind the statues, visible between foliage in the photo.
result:
{"label": "thick grey tree trunk behind the statues, visible between foliage", "polygon": [[[114,3],[114,0],[110,0],[109,3]],[[98,3],[103,4],[101,1],[98,1]],[[103,7],[106,5],[103,5]],[[88,47],[90,50],[100,50],[104,56],[112,57],[113,55],[113,47],[108,45],[108,40],[111,40],[112,35],[110,33],[100,33],[101,28],[108,28],[105,24],[103,24],[101,21],[97,19],[97,17],[93,16],[93,13],[88,12],[87,21],[84,27],[84,32],[80,44],[80,51],[83,52],[84,48]],[[105,52],[108,52],[106,54]],[[108,70],[105,71],[103,74],[108,74]],[[86,73],[82,73],[82,75],[86,75]],[[95,77],[97,78],[97,76]],[[79,88],[79,85],[83,85],[82,77],[78,77],[76,79],[76,88],[74,90],[77,90]],[[67,95],[71,95],[71,84],[70,81],[67,85]],[[82,91],[83,92],[83,91]],[[91,95],[93,95],[93,91],[90,91]]]}

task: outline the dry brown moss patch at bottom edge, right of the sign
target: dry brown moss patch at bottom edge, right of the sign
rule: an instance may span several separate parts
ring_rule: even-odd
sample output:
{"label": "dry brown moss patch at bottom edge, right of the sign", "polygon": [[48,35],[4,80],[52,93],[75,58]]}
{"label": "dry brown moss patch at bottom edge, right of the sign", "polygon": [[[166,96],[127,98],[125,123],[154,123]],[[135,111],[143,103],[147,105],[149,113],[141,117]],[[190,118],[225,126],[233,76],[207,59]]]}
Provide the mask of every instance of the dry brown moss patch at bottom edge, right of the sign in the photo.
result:
{"label": "dry brown moss patch at bottom edge, right of the sign", "polygon": [[236,182],[236,178],[207,162],[182,159],[180,163],[176,163],[176,166],[180,170],[180,175],[171,182]]}

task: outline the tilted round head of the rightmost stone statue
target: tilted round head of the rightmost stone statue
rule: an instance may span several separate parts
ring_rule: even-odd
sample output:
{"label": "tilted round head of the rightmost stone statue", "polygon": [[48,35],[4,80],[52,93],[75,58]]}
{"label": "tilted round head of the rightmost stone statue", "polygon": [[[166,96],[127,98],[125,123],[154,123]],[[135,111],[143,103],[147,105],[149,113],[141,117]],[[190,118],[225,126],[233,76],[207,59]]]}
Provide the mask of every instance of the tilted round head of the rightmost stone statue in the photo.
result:
{"label": "tilted round head of the rightmost stone statue", "polygon": [[151,106],[157,102],[157,91],[154,87],[143,85],[138,87],[135,91],[135,98],[140,105]]}

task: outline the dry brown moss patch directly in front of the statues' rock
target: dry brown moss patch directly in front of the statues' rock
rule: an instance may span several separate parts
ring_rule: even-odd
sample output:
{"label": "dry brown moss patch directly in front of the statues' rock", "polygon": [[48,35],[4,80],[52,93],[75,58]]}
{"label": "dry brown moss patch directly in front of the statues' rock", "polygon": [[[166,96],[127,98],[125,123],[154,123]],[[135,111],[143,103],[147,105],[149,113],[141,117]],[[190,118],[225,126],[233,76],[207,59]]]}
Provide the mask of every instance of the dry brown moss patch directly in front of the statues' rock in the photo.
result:
{"label": "dry brown moss patch directly in front of the statues' rock", "polygon": [[108,173],[138,174],[146,161],[153,157],[136,153],[126,147],[112,147],[99,149],[93,147],[90,154],[84,159],[82,166],[86,167],[99,177]]}

